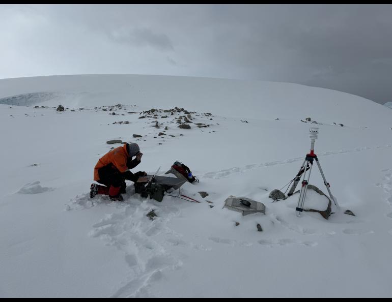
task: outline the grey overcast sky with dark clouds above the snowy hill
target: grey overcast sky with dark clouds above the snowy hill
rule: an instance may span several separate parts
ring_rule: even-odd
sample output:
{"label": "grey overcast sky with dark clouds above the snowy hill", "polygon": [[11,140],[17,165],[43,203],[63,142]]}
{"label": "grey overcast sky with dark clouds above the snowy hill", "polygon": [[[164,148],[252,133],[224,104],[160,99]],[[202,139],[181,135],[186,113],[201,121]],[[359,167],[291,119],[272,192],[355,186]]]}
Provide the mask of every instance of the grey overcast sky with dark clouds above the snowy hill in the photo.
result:
{"label": "grey overcast sky with dark clouds above the snowy hill", "polygon": [[392,101],[392,5],[0,5],[0,78],[282,81]]}

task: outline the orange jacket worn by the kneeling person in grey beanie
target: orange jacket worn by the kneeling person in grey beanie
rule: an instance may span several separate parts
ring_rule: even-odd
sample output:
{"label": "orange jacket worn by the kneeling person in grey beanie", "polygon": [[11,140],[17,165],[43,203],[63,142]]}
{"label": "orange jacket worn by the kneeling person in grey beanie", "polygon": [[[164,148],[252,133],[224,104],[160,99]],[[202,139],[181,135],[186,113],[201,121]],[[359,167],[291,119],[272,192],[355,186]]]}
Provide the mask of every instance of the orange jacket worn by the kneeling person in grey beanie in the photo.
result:
{"label": "orange jacket worn by the kneeling person in grey beanie", "polygon": [[110,150],[104,156],[102,156],[97,164],[94,167],[94,180],[99,180],[98,169],[112,164],[120,171],[120,173],[124,173],[128,171],[127,160],[129,158],[127,145],[124,144],[122,147],[117,147],[113,150]]}

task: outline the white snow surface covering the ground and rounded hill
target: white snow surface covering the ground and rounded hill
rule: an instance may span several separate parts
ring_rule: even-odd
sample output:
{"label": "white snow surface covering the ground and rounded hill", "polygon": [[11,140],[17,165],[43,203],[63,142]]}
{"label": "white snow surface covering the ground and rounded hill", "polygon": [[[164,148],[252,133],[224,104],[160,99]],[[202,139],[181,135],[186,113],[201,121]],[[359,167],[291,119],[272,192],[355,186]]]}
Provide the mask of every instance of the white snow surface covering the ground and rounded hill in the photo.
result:
{"label": "white snow surface covering the ground and rounded hill", "polygon": [[[175,123],[183,112],[163,111],[175,107],[191,112],[190,130]],[[156,118],[139,118],[152,108]],[[298,194],[268,198],[297,174],[310,127],[340,205],[328,220],[297,217]],[[0,297],[391,297],[391,127],[392,111],[370,100],[290,83],[0,80]],[[121,145],[111,139],[139,144],[134,171],[188,165],[200,183],[172,195],[200,203],[144,199],[128,181],[124,202],[91,199],[96,162]],[[317,166],[310,184],[328,195]],[[266,214],[223,208],[230,195],[263,202]],[[308,191],[305,205],[325,201]]]}

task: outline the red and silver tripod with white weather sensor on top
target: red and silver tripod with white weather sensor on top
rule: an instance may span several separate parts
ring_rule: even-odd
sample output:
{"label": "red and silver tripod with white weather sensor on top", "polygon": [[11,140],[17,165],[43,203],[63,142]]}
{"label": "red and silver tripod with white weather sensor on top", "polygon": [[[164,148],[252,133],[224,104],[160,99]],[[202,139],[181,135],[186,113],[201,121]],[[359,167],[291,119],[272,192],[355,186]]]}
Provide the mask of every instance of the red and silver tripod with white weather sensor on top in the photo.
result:
{"label": "red and silver tripod with white weather sensor on top", "polygon": [[[333,201],[335,206],[337,206],[339,208],[338,202],[335,200],[335,198],[332,196],[331,191],[329,190],[330,186],[329,186],[329,183],[327,182],[327,180],[325,179],[323,170],[321,169],[321,166],[319,163],[319,159],[317,158],[317,155],[314,153],[315,140],[317,138],[317,134],[318,134],[318,128],[311,128],[310,129],[309,138],[311,139],[311,152],[309,154],[306,154],[305,160],[303,161],[302,166],[299,169],[298,174],[293,179],[294,183],[291,186],[289,193],[287,193],[288,196],[293,195],[294,190],[299,183],[299,180],[301,180],[301,175],[303,174],[302,187],[301,187],[301,191],[299,193],[299,198],[298,198],[298,205],[295,209],[297,211],[298,217],[301,216],[301,212],[303,211],[303,204],[305,202],[306,189],[307,189],[307,185],[309,184],[309,178],[311,177],[311,172],[312,172],[312,167],[313,167],[314,161],[316,161],[317,166],[319,167],[321,176],[323,177],[323,180],[324,180],[324,185],[328,190],[329,197],[331,198],[331,200]],[[307,173],[308,170],[309,170],[309,173]]]}

